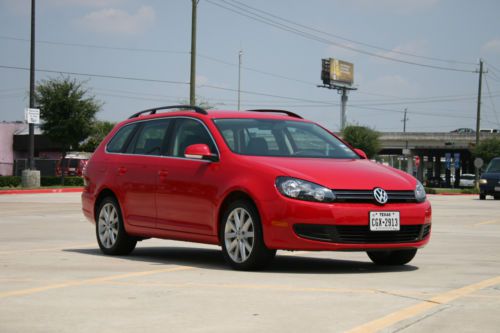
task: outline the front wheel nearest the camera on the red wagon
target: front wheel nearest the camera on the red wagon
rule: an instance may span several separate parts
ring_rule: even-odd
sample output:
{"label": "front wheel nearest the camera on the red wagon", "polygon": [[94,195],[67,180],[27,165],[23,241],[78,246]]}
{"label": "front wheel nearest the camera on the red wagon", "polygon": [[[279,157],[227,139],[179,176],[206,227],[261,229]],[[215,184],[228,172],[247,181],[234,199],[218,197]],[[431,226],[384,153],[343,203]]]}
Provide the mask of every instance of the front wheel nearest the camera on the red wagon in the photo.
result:
{"label": "front wheel nearest the camera on the red wagon", "polygon": [[245,200],[231,203],[222,215],[220,240],[226,261],[236,270],[258,270],[276,255],[264,244],[260,216]]}

